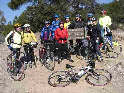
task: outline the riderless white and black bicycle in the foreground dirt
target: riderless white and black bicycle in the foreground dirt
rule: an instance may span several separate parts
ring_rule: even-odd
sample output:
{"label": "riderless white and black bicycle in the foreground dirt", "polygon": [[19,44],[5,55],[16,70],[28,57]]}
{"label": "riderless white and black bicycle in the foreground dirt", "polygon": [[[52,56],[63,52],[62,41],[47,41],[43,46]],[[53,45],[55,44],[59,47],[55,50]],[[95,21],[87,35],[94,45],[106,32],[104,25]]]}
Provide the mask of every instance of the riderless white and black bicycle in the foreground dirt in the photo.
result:
{"label": "riderless white and black bicycle in the foreground dirt", "polygon": [[53,87],[65,87],[72,83],[77,83],[82,76],[87,74],[85,80],[93,86],[105,86],[111,79],[112,75],[104,69],[92,69],[91,67],[82,67],[81,69],[73,69],[74,66],[66,64],[66,71],[56,71],[48,77],[48,84]]}

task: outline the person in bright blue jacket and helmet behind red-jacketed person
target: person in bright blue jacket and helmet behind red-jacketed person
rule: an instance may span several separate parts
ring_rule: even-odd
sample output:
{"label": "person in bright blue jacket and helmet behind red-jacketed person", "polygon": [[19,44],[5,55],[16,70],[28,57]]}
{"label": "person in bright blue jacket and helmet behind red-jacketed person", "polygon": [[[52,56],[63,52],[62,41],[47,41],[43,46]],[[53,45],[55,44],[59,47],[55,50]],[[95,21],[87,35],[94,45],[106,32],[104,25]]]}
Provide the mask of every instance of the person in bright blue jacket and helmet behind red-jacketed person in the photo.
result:
{"label": "person in bright blue jacket and helmet behind red-jacketed person", "polygon": [[55,33],[55,30],[57,28],[59,28],[59,23],[60,23],[60,19],[59,19],[59,15],[58,14],[55,14],[54,18],[55,18],[55,20],[52,22],[52,33],[53,33],[53,35]]}

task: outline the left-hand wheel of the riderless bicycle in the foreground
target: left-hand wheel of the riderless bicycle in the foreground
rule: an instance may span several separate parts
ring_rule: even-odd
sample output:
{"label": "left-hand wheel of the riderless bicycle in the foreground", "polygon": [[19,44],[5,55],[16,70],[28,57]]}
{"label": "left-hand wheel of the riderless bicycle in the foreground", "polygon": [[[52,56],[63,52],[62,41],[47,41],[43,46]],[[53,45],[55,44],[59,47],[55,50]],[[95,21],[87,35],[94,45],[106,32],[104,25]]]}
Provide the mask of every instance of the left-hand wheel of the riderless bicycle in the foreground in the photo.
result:
{"label": "left-hand wheel of the riderless bicycle in the foreground", "polygon": [[71,82],[69,78],[67,71],[56,71],[49,76],[48,84],[53,87],[65,87]]}

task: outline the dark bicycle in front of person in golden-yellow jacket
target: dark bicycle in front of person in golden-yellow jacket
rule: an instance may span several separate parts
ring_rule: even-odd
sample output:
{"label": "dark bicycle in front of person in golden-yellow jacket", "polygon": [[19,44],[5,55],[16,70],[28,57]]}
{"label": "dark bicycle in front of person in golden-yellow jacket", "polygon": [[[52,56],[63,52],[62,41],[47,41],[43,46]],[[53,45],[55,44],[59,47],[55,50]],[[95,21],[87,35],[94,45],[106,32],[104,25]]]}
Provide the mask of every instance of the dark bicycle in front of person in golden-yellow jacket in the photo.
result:
{"label": "dark bicycle in front of person in golden-yellow jacket", "polygon": [[27,69],[27,65],[29,64],[29,67],[32,68],[32,64],[37,67],[36,62],[38,60],[37,56],[34,55],[34,48],[37,47],[36,43],[29,43],[24,45],[25,53],[23,56],[23,62],[24,62],[24,69]]}

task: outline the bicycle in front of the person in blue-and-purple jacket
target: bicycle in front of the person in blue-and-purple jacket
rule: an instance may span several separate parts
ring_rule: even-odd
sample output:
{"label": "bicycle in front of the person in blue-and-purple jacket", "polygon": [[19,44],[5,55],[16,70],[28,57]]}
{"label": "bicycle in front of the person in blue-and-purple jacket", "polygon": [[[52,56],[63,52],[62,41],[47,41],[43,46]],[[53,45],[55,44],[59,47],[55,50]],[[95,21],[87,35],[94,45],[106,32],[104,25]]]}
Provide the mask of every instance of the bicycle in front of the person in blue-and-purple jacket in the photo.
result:
{"label": "bicycle in front of the person in blue-and-purple jacket", "polygon": [[39,61],[48,69],[53,71],[55,68],[55,57],[53,48],[54,41],[48,40],[43,43],[43,48],[39,49]]}

